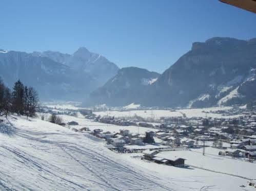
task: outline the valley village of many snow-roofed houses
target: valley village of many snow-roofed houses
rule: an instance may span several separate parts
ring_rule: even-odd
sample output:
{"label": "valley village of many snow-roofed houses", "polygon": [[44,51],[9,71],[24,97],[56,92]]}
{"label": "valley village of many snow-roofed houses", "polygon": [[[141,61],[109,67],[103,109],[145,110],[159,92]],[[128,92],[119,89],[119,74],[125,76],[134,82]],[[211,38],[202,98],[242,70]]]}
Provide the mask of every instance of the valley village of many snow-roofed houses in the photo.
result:
{"label": "valley village of many snow-roofed houses", "polygon": [[[153,128],[155,129],[155,132],[150,132],[150,136],[153,137],[153,140],[156,139],[159,144],[164,146],[183,146],[186,148],[192,148],[195,146],[203,146],[202,142],[199,143],[199,141],[218,141],[219,144],[215,144],[214,147],[218,146],[223,149],[225,147],[222,146],[222,142],[227,142],[230,143],[230,149],[233,150],[220,152],[221,155],[229,155],[233,157],[243,156],[250,159],[256,158],[255,113],[248,112],[241,108],[210,111],[205,113],[206,117],[186,117],[185,115],[177,117],[162,117],[160,118],[162,123],[140,122],[138,118],[121,119],[110,116],[94,116],[93,120],[96,122],[119,126]],[[210,117],[209,113],[219,113],[222,115],[240,114],[240,117],[213,118]],[[243,115],[241,115],[241,113]],[[106,139],[108,144],[113,147],[120,148],[125,145],[144,145],[146,143],[145,135],[130,133],[129,130],[121,130],[117,133],[94,130],[93,134],[97,137]],[[155,161],[157,161],[156,159]],[[164,160],[164,163],[165,162],[166,161]]]}

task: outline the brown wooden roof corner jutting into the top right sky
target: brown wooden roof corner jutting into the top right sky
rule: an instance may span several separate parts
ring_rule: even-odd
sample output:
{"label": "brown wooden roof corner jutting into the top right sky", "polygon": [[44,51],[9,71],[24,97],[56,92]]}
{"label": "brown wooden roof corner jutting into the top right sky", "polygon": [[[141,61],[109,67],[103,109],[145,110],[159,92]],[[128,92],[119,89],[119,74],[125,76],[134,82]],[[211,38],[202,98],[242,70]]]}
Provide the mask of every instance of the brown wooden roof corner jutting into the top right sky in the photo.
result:
{"label": "brown wooden roof corner jutting into the top right sky", "polygon": [[256,13],[256,0],[219,0],[219,1]]}

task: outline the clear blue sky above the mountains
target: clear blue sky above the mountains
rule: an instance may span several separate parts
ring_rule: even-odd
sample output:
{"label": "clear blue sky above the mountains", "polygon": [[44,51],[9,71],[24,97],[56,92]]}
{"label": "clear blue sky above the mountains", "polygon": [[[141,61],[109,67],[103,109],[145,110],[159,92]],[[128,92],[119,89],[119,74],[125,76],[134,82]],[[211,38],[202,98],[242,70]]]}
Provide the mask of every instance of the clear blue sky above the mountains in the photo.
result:
{"label": "clear blue sky above the mountains", "polygon": [[218,0],[1,2],[0,48],[100,53],[119,67],[162,73],[192,42],[256,37],[256,14]]}

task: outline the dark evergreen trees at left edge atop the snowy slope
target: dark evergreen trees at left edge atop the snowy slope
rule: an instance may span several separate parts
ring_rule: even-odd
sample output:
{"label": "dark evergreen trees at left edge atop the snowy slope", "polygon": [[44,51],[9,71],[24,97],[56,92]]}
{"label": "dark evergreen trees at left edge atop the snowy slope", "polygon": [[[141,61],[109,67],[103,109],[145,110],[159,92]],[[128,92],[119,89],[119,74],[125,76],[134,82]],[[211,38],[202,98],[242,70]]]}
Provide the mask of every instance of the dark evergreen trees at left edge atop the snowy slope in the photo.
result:
{"label": "dark evergreen trees at left edge atop the snowy slope", "polygon": [[9,113],[17,113],[27,117],[35,116],[38,103],[38,94],[33,87],[24,86],[18,80],[14,83],[11,91],[0,79],[0,116],[5,115],[7,117]]}

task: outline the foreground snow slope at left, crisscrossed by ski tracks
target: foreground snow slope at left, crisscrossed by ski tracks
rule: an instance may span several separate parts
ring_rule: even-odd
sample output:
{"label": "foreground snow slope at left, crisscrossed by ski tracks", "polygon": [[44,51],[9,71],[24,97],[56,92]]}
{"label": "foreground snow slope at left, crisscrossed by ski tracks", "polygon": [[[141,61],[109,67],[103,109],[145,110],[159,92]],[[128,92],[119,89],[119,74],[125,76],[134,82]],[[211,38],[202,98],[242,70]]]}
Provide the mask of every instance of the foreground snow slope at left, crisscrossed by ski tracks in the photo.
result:
{"label": "foreground snow slope at left, crisscrossed by ski tracks", "polygon": [[0,134],[0,190],[172,190],[85,134],[48,122],[40,123],[58,131],[41,131],[34,119],[12,123],[12,135]]}

